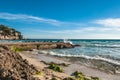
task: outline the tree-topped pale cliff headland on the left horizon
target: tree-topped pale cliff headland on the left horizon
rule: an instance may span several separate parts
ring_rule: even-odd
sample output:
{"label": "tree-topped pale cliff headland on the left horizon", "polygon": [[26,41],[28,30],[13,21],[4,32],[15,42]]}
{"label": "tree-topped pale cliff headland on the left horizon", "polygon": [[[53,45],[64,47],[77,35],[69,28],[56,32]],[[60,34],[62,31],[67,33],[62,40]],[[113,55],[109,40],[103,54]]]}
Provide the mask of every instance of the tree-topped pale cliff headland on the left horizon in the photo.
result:
{"label": "tree-topped pale cliff headland on the left horizon", "polygon": [[22,39],[21,33],[5,25],[0,25],[0,39]]}

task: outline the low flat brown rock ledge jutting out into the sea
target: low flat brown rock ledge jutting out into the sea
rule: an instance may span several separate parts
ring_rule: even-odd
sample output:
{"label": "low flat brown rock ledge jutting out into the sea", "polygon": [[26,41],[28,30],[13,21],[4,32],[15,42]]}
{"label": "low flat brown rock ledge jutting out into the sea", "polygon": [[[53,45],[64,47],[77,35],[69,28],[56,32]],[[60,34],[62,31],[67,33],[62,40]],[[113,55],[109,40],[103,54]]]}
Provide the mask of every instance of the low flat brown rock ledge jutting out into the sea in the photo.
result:
{"label": "low flat brown rock ledge jutting out into the sea", "polygon": [[63,42],[26,42],[26,43],[1,43],[1,45],[15,46],[21,50],[33,49],[64,49],[74,48],[75,46],[70,43]]}

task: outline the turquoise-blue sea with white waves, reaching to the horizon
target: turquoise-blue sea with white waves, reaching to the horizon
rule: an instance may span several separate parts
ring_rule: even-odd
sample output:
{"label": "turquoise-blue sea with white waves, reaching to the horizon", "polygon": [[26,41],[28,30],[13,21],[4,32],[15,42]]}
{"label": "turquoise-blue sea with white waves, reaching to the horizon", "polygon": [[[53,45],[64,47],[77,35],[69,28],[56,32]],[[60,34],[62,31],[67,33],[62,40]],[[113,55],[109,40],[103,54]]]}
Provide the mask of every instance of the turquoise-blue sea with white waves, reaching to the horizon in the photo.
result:
{"label": "turquoise-blue sea with white waves, reaching to the horizon", "polygon": [[[62,39],[26,39],[26,40],[0,40],[0,42],[62,42]],[[43,52],[51,55],[84,57],[88,59],[100,59],[120,65],[120,40],[97,39],[70,39],[73,44],[80,47],[71,49],[52,49]]]}

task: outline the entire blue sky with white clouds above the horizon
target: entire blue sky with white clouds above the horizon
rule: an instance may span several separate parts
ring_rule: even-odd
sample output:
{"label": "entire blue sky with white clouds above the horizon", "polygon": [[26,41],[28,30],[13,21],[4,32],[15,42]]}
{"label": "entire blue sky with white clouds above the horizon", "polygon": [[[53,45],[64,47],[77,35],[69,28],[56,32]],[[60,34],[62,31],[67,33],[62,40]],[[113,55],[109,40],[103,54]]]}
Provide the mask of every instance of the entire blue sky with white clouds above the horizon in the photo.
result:
{"label": "entire blue sky with white clouds above the horizon", "polygon": [[1,0],[0,24],[25,38],[120,39],[120,0]]}

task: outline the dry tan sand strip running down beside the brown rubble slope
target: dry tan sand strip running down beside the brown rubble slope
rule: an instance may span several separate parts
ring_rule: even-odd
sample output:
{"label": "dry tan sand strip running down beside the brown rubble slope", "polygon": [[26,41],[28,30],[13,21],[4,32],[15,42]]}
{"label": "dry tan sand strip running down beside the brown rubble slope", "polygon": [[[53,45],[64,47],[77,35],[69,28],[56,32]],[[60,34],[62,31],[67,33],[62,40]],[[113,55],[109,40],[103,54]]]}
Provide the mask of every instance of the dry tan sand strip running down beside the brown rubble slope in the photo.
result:
{"label": "dry tan sand strip running down beside the brown rubble slope", "polygon": [[50,69],[47,69],[48,67],[46,64],[41,62],[41,60],[37,59],[34,53],[31,53],[29,51],[25,51],[20,53],[23,59],[27,59],[30,64],[33,64],[38,70],[43,72],[42,76],[34,75],[35,77],[38,77],[40,80],[51,80],[53,77],[57,77],[58,79],[64,79],[66,77],[69,77],[68,74],[65,73],[59,73],[52,71]]}

